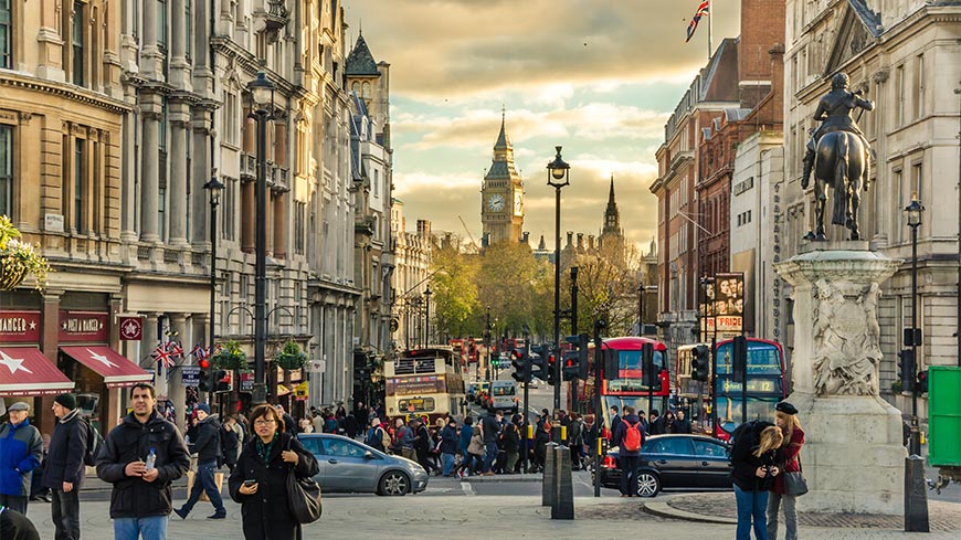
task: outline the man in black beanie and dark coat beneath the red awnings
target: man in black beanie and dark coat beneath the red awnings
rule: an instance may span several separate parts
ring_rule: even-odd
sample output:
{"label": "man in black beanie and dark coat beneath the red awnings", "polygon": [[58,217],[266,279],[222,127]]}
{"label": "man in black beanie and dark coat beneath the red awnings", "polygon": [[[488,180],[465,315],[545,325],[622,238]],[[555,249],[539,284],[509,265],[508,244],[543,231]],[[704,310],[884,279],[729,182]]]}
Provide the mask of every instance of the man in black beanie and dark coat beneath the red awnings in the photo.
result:
{"label": "man in black beanie and dark coat beneath the red awnings", "polygon": [[87,452],[89,426],[76,407],[74,394],[60,394],[53,400],[56,425],[50,437],[50,448],[43,466],[43,486],[53,496],[50,507],[57,540],[80,538],[80,494],[83,486],[84,455]]}

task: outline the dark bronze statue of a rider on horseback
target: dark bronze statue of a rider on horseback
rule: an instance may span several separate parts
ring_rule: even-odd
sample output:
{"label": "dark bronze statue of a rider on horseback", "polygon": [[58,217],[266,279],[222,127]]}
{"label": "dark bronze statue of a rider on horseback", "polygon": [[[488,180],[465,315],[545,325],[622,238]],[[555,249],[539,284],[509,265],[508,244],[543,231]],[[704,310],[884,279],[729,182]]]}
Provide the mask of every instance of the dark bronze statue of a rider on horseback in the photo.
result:
{"label": "dark bronze statue of a rider on horseback", "polygon": [[801,189],[807,189],[811,173],[814,173],[816,230],[807,233],[807,240],[827,240],[824,234],[827,186],[834,188],[831,223],[847,227],[851,240],[860,240],[857,208],[862,190],[868,188],[870,147],[851,112],[855,108],[874,110],[874,102],[863,98],[859,91],[851,92],[848,84],[847,74],[834,75],[831,92],[821,98],[814,112],[814,119],[823,124],[807,142],[801,177]]}

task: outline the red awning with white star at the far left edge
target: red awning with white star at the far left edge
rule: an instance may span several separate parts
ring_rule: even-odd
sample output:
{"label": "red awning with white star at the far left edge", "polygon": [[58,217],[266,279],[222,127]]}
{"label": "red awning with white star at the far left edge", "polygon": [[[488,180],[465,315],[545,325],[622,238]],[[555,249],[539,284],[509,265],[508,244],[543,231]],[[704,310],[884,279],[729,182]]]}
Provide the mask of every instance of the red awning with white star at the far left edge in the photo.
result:
{"label": "red awning with white star at the far left edge", "polygon": [[73,387],[74,382],[38,349],[0,349],[0,396],[61,394],[72,391]]}

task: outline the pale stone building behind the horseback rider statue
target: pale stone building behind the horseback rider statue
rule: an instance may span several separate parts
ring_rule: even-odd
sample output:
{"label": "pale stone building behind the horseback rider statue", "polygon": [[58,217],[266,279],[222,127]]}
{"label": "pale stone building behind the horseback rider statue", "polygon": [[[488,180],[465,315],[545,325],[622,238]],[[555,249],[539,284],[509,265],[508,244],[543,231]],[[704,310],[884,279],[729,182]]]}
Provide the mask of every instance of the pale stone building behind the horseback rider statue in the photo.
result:
{"label": "pale stone building behind the horseback rider statue", "polygon": [[[891,383],[896,353],[905,347],[902,329],[911,326],[911,231],[902,209],[915,193],[926,208],[918,230],[919,369],[958,363],[961,7],[923,0],[789,0],[786,9],[785,204],[775,214],[786,225],[783,256],[798,253],[812,229],[812,189],[800,187],[806,133],[815,127],[812,116],[831,77],[845,72],[853,89],[876,103],[859,121],[876,152],[869,189],[862,194],[860,230],[873,248],[904,261],[881,286],[880,388],[909,411],[910,396],[894,393]],[[838,227],[827,233],[844,237]],[[927,416],[923,399],[920,415]]]}

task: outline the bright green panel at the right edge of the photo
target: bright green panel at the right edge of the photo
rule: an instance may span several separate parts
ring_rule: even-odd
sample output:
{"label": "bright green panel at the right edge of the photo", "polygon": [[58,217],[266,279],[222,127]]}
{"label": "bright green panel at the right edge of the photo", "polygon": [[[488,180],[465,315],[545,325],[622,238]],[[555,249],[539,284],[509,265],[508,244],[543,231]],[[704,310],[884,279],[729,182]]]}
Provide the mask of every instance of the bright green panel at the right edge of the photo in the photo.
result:
{"label": "bright green panel at the right edge of the photo", "polygon": [[961,466],[961,368],[928,368],[928,459]]}

